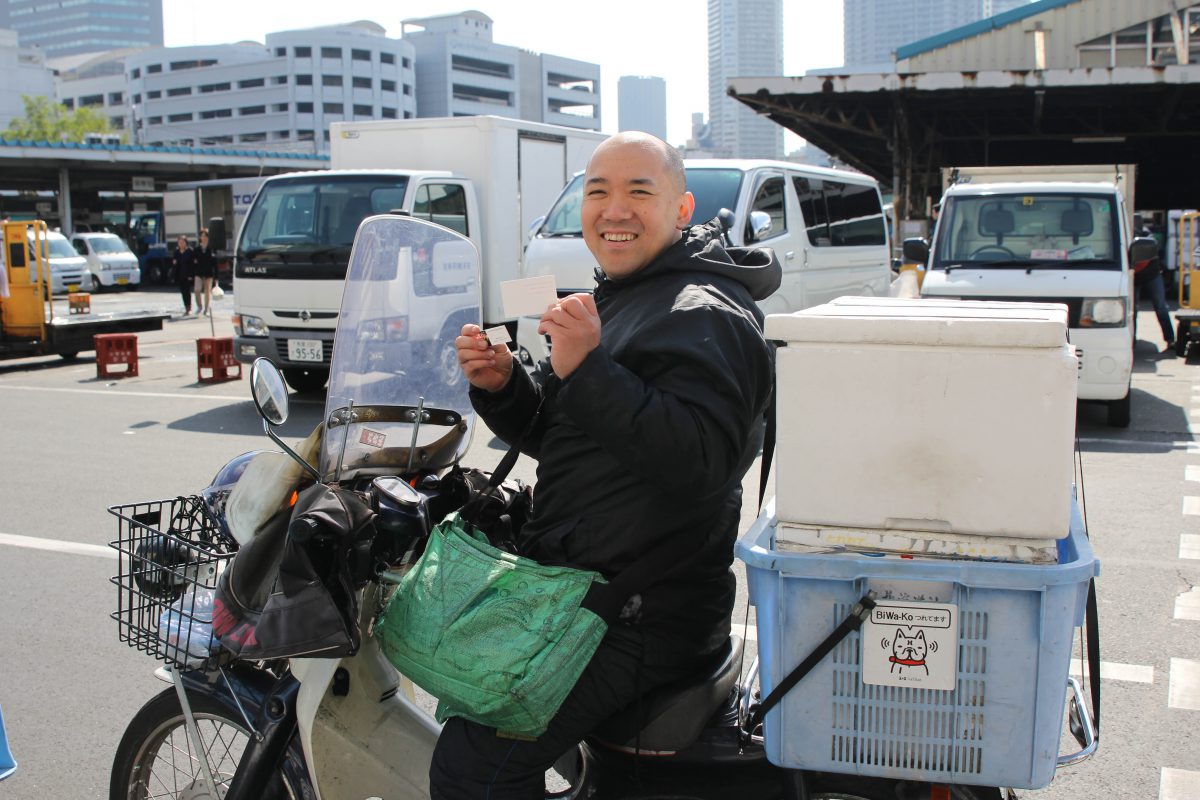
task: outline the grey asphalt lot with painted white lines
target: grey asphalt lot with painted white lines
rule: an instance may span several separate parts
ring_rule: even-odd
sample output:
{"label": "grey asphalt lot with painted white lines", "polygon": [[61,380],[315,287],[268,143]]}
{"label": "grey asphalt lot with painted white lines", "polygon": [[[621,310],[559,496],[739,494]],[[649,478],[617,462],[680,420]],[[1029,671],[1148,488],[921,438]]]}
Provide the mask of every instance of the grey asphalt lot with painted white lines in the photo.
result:
{"label": "grey asphalt lot with painted white lines", "polygon": [[[178,311],[179,300],[121,293],[95,306]],[[20,764],[0,784],[5,800],[107,796],[125,724],[163,687],[156,663],[119,643],[108,616],[115,559],[104,546],[116,528],[107,506],[197,492],[230,457],[271,446],[245,378],[197,380],[194,341],[230,331],[232,297],[215,306],[211,327],[172,319],[139,335],[136,378],[97,379],[91,354],[0,362],[0,705]],[[1148,312],[1141,323],[1133,426],[1115,431],[1103,409],[1079,409],[1084,499],[1103,564],[1102,746],[1022,798],[1200,798],[1200,440],[1190,422],[1200,372],[1159,355]],[[293,395],[283,438],[302,438],[320,413],[319,397]],[[480,428],[467,461],[486,469],[503,452]],[[533,465],[522,459],[515,474],[532,480]],[[748,497],[756,479],[757,468]],[[748,507],[744,523],[752,517]],[[736,622],[744,613],[743,591]]]}

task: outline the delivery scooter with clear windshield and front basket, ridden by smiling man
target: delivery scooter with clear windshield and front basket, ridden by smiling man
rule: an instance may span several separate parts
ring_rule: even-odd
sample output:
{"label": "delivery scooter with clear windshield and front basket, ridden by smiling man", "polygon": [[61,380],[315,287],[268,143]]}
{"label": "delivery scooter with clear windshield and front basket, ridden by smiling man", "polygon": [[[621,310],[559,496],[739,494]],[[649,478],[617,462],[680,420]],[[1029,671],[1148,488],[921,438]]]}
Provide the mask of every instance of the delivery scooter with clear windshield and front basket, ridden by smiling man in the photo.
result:
{"label": "delivery scooter with clear windshield and front basket, ridden by smiling man", "polygon": [[[172,684],[130,722],[113,800],[426,798],[440,726],[382,655],[372,624],[448,509],[444,480],[467,451],[466,380],[445,380],[452,342],[412,341],[415,315],[479,319],[479,257],[439,225],[366,219],[350,257],[319,439],[293,449],[278,371],[260,360],[252,395],[287,453],[239,457],[200,495],[114,506],[120,637],[166,662]],[[427,325],[438,331],[446,325]],[[450,326],[457,330],[454,325]],[[263,467],[263,465],[266,467]],[[266,476],[266,477],[264,477]],[[263,519],[323,482],[358,492],[388,537],[359,594],[361,643],[346,657],[230,658],[212,639],[211,593]],[[996,787],[782,769],[762,738],[757,660],[727,645],[684,681],[607,721],[547,776],[547,798],[918,800],[1015,796]],[[804,684],[793,690],[804,691]]]}

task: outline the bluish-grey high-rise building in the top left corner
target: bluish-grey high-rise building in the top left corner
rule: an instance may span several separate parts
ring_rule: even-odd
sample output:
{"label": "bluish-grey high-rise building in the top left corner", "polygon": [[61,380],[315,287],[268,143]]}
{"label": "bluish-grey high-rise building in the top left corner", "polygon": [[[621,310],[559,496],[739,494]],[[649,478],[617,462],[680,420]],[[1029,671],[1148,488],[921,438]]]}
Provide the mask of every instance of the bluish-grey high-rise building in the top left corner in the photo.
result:
{"label": "bluish-grey high-rise building in the top left corner", "polygon": [[162,47],[162,0],[0,0],[0,28],[47,58]]}

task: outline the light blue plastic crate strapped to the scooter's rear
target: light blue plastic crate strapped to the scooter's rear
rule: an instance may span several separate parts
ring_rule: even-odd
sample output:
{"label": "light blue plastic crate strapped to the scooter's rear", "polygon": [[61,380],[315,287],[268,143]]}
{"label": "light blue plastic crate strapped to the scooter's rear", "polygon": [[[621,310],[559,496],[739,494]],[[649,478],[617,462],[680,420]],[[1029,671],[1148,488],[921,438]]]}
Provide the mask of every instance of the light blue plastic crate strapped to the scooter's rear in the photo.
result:
{"label": "light blue plastic crate strapped to the scooter's rear", "polygon": [[1051,566],[778,551],[772,511],[736,547],[757,612],[763,696],[868,590],[881,600],[932,590],[959,609],[955,688],[864,684],[851,633],[767,714],[773,764],[1026,789],[1050,782],[1073,633],[1099,573],[1078,511]]}

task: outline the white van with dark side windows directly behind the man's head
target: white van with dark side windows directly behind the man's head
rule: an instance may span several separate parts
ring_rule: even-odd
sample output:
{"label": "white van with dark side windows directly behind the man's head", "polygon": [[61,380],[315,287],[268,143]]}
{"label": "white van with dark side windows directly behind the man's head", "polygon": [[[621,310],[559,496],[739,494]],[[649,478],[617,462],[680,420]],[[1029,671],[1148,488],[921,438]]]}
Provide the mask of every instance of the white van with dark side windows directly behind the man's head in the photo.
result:
{"label": "white van with dark side windows directly behind the man's head", "polygon": [[[782,161],[685,160],[692,223],[733,212],[733,243],[770,247],[784,267],[779,291],[760,302],[787,313],[844,295],[887,296],[892,258],[875,179]],[[559,296],[595,288],[596,263],[583,242],[583,173],[575,175],[534,227],[524,276],[553,275]],[[546,356],[536,320],[522,319],[517,345],[527,363]]]}

